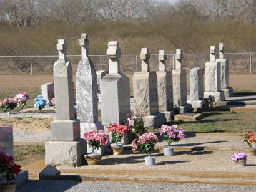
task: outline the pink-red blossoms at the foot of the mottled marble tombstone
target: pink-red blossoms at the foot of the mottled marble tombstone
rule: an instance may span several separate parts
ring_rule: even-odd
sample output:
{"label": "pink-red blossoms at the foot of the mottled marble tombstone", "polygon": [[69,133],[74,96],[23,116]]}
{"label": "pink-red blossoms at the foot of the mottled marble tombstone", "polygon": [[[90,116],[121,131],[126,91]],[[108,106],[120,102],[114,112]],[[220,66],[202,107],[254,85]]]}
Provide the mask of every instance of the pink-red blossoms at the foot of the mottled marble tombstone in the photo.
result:
{"label": "pink-red blossoms at the foot of the mottled marble tombstone", "polygon": [[87,131],[84,133],[84,138],[87,141],[99,142],[100,145],[107,145],[107,135],[104,130],[99,130],[98,132],[96,130]]}

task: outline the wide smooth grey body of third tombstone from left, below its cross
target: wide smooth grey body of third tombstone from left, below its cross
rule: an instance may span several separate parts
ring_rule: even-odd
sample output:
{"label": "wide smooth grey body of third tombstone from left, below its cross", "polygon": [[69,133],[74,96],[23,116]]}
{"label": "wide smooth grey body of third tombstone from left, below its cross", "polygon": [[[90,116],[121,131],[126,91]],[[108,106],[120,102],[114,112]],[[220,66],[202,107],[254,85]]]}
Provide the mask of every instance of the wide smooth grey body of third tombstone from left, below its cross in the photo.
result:
{"label": "wide smooth grey body of third tombstone from left, below its cross", "polygon": [[130,81],[123,74],[107,74],[101,80],[101,121],[126,123],[126,114],[130,113]]}

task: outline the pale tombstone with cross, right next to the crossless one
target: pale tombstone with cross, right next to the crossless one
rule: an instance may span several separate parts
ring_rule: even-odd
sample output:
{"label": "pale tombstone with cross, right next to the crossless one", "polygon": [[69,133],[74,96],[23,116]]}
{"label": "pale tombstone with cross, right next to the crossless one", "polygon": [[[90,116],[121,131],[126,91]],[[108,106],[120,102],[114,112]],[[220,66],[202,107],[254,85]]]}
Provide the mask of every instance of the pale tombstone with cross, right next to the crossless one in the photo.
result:
{"label": "pale tombstone with cross, right next to the crossless one", "polygon": [[204,98],[210,95],[215,101],[225,100],[224,92],[220,90],[220,62],[215,61],[215,46],[210,46],[210,62],[205,63]]}

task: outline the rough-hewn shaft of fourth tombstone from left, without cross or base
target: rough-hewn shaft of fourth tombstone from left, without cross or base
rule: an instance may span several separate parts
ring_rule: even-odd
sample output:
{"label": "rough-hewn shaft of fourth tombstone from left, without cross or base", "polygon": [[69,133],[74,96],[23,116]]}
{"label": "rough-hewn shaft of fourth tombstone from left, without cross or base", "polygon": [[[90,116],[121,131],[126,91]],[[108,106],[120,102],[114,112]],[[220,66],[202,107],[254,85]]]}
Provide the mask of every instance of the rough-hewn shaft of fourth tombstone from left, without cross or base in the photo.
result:
{"label": "rough-hewn shaft of fourth tombstone from left, without cross or base", "polygon": [[138,115],[154,115],[159,112],[156,72],[134,73],[133,90]]}

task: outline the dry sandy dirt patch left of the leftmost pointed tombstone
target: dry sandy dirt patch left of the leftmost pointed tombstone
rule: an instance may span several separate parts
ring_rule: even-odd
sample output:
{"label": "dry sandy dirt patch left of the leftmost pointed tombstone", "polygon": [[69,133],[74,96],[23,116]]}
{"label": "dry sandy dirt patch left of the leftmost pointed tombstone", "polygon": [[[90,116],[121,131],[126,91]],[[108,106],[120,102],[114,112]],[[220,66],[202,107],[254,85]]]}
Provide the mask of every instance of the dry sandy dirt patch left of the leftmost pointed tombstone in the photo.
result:
{"label": "dry sandy dirt patch left of the leftmost pointed tombstone", "polygon": [[52,118],[12,117],[0,118],[0,125],[13,125],[14,130],[34,130],[41,133],[50,130]]}

